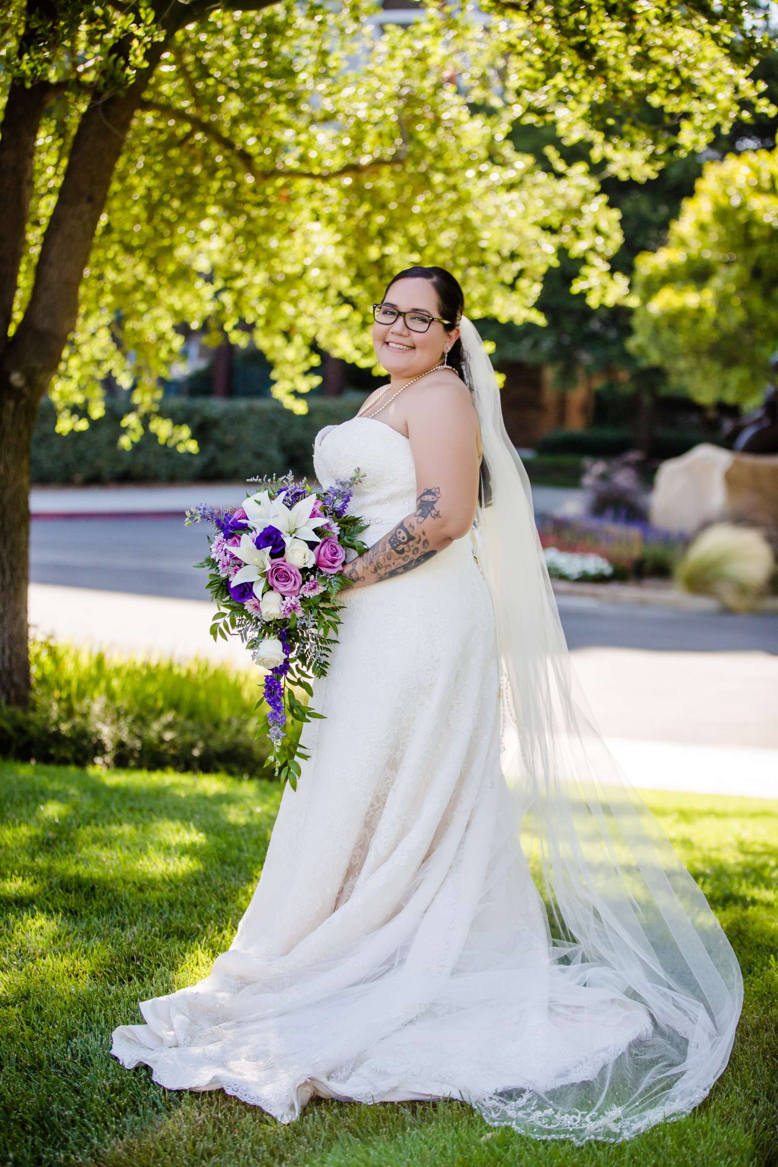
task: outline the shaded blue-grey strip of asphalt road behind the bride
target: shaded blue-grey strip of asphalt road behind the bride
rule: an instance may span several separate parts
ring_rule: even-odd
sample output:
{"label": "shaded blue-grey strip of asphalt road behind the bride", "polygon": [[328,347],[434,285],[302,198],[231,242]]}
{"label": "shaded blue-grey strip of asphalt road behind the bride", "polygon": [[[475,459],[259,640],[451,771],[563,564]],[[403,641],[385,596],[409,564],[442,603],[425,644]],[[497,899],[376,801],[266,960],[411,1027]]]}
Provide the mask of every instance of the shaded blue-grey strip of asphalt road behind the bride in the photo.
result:
{"label": "shaded blue-grey strip of asphalt road behind the bride", "polygon": [[[31,524],[30,579],[38,584],[134,595],[208,599],[210,526],[175,518],[37,519]],[[778,616],[675,612],[647,605],[563,596],[560,614],[570,648],[778,654]]]}

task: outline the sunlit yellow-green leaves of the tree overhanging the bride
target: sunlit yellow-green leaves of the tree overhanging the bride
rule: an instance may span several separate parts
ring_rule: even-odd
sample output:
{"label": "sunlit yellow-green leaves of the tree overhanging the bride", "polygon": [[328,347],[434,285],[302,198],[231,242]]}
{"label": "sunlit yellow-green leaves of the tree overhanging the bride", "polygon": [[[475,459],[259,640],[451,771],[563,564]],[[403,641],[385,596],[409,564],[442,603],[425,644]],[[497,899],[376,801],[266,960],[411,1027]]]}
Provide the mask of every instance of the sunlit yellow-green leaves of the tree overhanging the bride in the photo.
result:
{"label": "sunlit yellow-green leaves of the tree overhanging the bride", "polygon": [[[759,100],[749,72],[764,42],[741,2],[440,6],[378,37],[372,0],[188,7],[84,271],[50,390],[63,432],[100,415],[112,373],[133,389],[124,443],[150,413],[161,441],[192,448],[187,427],[153,415],[182,326],[253,340],[274,394],[306,412],[320,380],[311,344],[373,364],[369,306],[413,263],[454,271],[476,319],[542,323],[533,306],[562,251],[580,260],[574,291],[590,306],[619,302],[626,281],[609,257],[622,236],[603,175],[652,176],[670,151],[701,149]],[[56,26],[28,28],[20,54],[23,11],[16,0],[0,18],[3,85],[58,90],[37,139],[10,333],[80,114],[160,36],[150,7],[70,4]],[[586,142],[590,162],[547,146],[540,167],[510,144],[517,119]]]}

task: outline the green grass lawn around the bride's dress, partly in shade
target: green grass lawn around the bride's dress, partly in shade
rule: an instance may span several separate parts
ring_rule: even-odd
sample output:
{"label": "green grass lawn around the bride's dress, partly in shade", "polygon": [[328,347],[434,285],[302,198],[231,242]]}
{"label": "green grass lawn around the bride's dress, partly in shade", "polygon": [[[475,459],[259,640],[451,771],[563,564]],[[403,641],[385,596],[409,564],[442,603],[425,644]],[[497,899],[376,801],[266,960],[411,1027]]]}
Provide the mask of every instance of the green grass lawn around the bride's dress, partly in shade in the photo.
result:
{"label": "green grass lawn around the bride's dress, partly in shade", "polygon": [[111,1057],[138,1001],[205,976],[262,865],[265,781],[0,763],[0,1161],[99,1167],[778,1162],[778,802],[651,794],[735,946],[733,1058],[687,1118],[611,1146],[538,1142],[457,1102],[314,1099],[286,1126]]}

